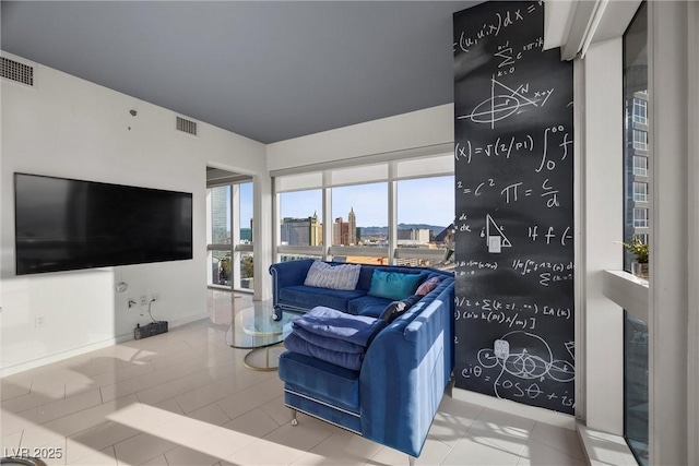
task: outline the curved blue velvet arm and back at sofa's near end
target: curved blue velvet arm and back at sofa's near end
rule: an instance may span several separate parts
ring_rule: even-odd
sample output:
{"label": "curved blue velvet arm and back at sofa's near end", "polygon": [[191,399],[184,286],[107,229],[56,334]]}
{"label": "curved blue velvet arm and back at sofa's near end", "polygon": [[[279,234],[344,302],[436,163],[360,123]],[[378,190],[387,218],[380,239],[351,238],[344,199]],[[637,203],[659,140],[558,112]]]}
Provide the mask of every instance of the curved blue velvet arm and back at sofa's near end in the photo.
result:
{"label": "curved blue velvet arm and back at sofa's near end", "polygon": [[453,285],[369,346],[359,374],[364,437],[419,455],[451,377],[452,347]]}

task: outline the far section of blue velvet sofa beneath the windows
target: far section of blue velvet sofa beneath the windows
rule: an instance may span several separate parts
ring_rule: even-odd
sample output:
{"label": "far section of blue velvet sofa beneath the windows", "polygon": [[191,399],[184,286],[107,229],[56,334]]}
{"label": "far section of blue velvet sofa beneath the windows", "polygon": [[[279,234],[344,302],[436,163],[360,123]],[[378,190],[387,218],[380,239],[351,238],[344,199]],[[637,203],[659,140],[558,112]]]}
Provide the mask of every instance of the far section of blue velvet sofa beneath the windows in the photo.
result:
{"label": "far section of blue velvet sofa beneath the windows", "polygon": [[[425,280],[435,276],[440,279],[453,278],[452,273],[438,271],[436,268],[363,264],[355,289],[336,290],[317,288],[304,285],[308,270],[313,262],[312,259],[305,259],[300,261],[280,262],[270,266],[274,320],[281,320],[284,310],[305,312],[316,306],[325,306],[355,315],[377,318],[392,300],[368,294],[375,270],[402,274],[420,274],[424,275]],[[343,265],[339,262],[325,263],[330,265]]]}

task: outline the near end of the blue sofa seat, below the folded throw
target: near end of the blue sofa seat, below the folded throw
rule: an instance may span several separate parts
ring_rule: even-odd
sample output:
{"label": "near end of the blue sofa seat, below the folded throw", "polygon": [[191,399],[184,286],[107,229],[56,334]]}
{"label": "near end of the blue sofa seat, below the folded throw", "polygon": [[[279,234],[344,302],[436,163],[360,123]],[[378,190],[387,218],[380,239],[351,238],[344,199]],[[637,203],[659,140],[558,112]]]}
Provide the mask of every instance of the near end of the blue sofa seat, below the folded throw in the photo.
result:
{"label": "near end of the blue sofa seat, below the folded throw", "polygon": [[356,413],[359,408],[359,372],[292,351],[280,356],[280,379],[285,387],[332,406]]}

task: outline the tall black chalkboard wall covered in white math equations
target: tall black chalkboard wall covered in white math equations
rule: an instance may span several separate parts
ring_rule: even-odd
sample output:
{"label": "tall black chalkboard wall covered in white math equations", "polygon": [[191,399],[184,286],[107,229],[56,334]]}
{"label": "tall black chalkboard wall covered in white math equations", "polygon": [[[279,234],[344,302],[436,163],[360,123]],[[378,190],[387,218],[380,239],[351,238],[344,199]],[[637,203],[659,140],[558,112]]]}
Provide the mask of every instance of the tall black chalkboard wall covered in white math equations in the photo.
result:
{"label": "tall black chalkboard wall covered in white math equations", "polygon": [[572,414],[572,63],[541,2],[453,21],[457,386]]}

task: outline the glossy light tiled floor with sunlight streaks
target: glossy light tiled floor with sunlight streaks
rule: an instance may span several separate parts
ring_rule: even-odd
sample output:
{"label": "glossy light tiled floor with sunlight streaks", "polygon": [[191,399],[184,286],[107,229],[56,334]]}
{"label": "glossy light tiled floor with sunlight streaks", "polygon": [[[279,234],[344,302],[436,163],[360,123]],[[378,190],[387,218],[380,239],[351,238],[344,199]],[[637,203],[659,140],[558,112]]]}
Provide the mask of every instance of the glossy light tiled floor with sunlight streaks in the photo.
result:
{"label": "glossy light tiled floor with sunlight streaks", "polygon": [[[226,345],[232,313],[250,304],[210,292],[210,320],[2,379],[3,456],[39,453],[70,465],[406,465],[406,455],[322,421],[299,416],[291,426],[276,372],[246,369],[247,350]],[[585,462],[572,431],[445,397],[417,464]]]}

